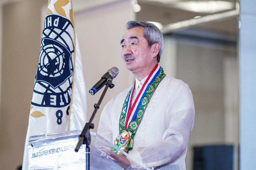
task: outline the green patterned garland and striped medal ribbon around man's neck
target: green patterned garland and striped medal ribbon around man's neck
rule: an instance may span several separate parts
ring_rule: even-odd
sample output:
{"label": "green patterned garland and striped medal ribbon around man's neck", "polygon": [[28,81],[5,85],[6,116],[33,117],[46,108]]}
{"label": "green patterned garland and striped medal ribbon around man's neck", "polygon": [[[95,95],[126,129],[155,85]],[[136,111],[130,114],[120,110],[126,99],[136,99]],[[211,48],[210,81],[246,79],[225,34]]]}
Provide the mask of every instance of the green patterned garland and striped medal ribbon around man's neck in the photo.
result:
{"label": "green patterned garland and striped medal ribbon around man's neck", "polygon": [[[158,84],[163,80],[166,76],[164,74],[164,70],[158,64],[151,71],[150,75],[148,75],[145,83],[143,84],[140,92],[138,93],[133,105],[131,106],[132,96],[134,92],[134,87],[130,89],[127,94],[121,116],[119,119],[119,136],[116,137],[114,144],[120,148],[121,150],[128,153],[128,151],[132,150],[133,147],[133,137],[137,131],[137,128],[141,122],[142,116],[146,110],[146,107],[155,92]],[[129,123],[129,125],[128,125]],[[111,152],[122,155],[122,153],[114,148],[111,149]]]}

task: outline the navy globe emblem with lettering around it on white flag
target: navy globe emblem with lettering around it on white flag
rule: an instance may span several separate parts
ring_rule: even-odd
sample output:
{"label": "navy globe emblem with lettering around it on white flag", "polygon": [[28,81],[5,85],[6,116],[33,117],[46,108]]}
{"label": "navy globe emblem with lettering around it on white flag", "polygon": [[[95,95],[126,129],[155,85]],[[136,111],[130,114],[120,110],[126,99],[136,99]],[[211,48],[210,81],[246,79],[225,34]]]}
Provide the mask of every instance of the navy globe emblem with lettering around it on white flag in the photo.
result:
{"label": "navy globe emblem with lettering around it on white flag", "polygon": [[71,22],[48,15],[42,34],[32,105],[64,107],[70,103],[74,54]]}

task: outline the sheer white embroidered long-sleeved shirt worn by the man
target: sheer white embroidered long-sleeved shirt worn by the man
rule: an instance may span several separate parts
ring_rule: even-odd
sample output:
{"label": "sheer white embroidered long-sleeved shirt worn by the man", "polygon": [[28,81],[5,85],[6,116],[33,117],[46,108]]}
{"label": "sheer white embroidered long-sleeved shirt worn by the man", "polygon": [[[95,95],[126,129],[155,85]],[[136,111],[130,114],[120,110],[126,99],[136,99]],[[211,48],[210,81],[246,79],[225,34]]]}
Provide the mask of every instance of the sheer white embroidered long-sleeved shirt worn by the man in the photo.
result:
{"label": "sheer white embroidered long-sleeved shirt worn by the man", "polygon": [[[136,86],[144,82],[136,80]],[[135,87],[135,92],[140,87]],[[112,143],[119,135],[119,119],[130,89],[111,99],[101,113],[98,134]],[[185,170],[194,117],[194,101],[188,85],[166,75],[148,103],[129,155],[155,169]]]}

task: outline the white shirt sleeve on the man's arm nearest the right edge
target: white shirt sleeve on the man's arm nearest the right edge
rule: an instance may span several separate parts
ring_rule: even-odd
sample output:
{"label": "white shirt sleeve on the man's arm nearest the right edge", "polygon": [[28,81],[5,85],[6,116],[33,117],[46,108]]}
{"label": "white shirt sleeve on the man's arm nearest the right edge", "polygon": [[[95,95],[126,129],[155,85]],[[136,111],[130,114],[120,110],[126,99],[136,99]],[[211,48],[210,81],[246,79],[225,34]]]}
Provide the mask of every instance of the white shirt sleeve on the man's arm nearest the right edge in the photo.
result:
{"label": "white shirt sleeve on the man's arm nearest the right edge", "polygon": [[[163,124],[166,130],[163,134],[163,141],[158,141],[155,145],[138,147],[129,155],[146,166],[156,167],[175,162],[186,154],[189,133],[194,125],[194,116],[193,96],[188,85],[183,83],[175,91],[165,114]],[[185,159],[185,156],[182,157]]]}

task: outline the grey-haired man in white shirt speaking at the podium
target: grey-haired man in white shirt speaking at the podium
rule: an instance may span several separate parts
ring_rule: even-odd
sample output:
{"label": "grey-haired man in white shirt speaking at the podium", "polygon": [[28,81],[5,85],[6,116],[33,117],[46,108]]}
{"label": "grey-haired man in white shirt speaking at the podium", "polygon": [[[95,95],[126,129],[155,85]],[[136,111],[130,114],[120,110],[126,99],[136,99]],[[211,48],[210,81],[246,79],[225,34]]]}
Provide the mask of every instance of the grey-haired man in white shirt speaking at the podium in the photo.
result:
{"label": "grey-haired man in white shirt speaking at the podium", "polygon": [[[122,58],[136,77],[135,83],[106,104],[98,134],[146,166],[185,170],[195,116],[191,91],[158,65],[164,44],[154,24],[129,21],[126,29],[121,40]],[[130,166],[119,151],[111,152]]]}

